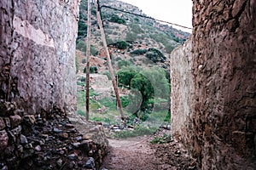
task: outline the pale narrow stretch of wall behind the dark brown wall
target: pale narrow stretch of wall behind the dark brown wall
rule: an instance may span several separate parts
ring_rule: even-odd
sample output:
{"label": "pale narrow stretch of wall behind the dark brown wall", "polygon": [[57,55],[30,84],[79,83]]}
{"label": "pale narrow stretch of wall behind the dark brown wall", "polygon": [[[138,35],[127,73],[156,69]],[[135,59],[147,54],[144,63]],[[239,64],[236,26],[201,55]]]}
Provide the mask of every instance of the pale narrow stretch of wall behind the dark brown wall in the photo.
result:
{"label": "pale narrow stretch of wall behind the dark brown wall", "polygon": [[172,137],[189,147],[192,130],[192,42],[191,38],[171,54],[171,126]]}

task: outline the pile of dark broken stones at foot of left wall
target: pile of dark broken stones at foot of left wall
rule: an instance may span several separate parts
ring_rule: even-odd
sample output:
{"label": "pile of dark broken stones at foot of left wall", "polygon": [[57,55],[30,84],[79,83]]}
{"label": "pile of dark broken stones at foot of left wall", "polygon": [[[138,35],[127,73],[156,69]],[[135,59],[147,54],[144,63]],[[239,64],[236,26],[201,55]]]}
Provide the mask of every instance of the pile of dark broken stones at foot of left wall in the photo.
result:
{"label": "pile of dark broken stones at foot of left wall", "polygon": [[28,115],[1,100],[0,169],[98,169],[108,151],[102,129],[93,122],[72,124],[57,109]]}

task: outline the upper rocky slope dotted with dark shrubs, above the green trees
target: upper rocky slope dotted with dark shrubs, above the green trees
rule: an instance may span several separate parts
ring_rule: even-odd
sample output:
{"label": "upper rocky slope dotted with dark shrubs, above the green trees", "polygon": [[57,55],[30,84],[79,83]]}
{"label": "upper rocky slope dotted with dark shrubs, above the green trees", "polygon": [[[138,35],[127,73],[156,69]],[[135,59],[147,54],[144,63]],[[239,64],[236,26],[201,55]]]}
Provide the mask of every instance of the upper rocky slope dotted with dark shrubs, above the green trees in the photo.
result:
{"label": "upper rocky slope dotted with dark shrubs, above the green trees", "polygon": [[[100,1],[101,6],[106,5],[113,8],[119,8],[134,14],[143,14],[143,11],[131,4],[120,1]],[[172,49],[182,44],[188,37],[189,33],[179,31],[172,26],[163,25],[155,20],[146,19],[140,16],[126,14],[113,10],[111,8],[102,8],[103,26],[107,37],[110,52],[113,56],[113,65],[118,65],[119,60],[126,60],[131,65],[140,65],[143,67],[151,67],[153,65],[161,65],[168,68],[166,59],[148,59],[146,55],[150,52],[148,48],[155,48],[160,51],[166,58],[169,58]],[[84,51],[86,48],[85,37],[87,31],[87,1],[83,0],[80,4],[79,15],[79,37],[77,39],[77,50]],[[92,29],[91,29],[91,54],[105,59],[105,52],[102,48],[101,34],[96,24],[96,9],[92,5]],[[125,42],[124,47],[117,47],[116,42]],[[127,46],[127,47],[126,47]],[[143,54],[132,54],[137,49],[145,49],[147,52]],[[152,50],[151,50],[152,52]],[[160,54],[159,53],[159,54]],[[149,53],[148,55],[152,55]],[[153,54],[154,55],[154,54]],[[86,62],[83,53],[77,53],[79,58],[79,71],[84,70]],[[153,56],[154,57],[154,56]],[[150,56],[149,56],[150,58]],[[82,59],[84,62],[81,63]],[[101,60],[100,59],[100,60]],[[104,65],[98,65],[96,62],[91,63],[92,66],[99,67],[99,72],[106,71]]]}

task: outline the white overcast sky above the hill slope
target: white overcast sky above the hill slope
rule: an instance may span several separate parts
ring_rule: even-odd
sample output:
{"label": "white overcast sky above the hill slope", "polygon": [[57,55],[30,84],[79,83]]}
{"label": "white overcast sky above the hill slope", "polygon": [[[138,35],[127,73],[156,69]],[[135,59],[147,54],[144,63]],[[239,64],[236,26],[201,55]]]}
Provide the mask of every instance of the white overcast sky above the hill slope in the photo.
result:
{"label": "white overcast sky above the hill slope", "polygon": [[[120,0],[143,10],[144,14],[192,28],[192,0]],[[173,26],[179,30],[181,27]],[[185,29],[183,31],[191,30]]]}

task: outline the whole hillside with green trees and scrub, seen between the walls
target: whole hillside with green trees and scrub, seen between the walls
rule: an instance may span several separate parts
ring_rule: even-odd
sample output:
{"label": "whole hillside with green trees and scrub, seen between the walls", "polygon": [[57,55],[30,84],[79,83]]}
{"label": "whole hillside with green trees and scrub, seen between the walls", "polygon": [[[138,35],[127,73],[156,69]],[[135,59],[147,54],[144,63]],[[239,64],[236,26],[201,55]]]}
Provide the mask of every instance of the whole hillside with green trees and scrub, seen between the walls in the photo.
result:
{"label": "whole hillside with green trees and scrub, seen between the walls", "polygon": [[[133,14],[143,14],[135,6],[121,1],[100,1],[103,27],[115,75],[118,77],[119,93],[125,116],[136,116],[143,121],[149,114],[157,121],[169,122],[170,113],[170,54],[181,45],[189,33],[178,31],[172,26]],[[133,14],[113,10],[118,8]],[[79,12],[79,35],[77,39],[78,112],[84,115],[84,69],[86,65],[87,1],[81,1]],[[92,120],[115,123],[116,118],[108,113],[115,112],[115,98],[106,54],[102,46],[101,33],[96,21],[96,9],[92,5],[90,46],[90,111],[106,113],[103,118],[95,115]],[[133,90],[135,89],[135,91]],[[159,113],[161,112],[161,113]],[[161,115],[161,116],[160,116]],[[168,116],[169,115],[169,116]],[[112,117],[112,118],[111,118]],[[118,120],[116,120],[119,122]],[[109,121],[108,121],[109,122]]]}

